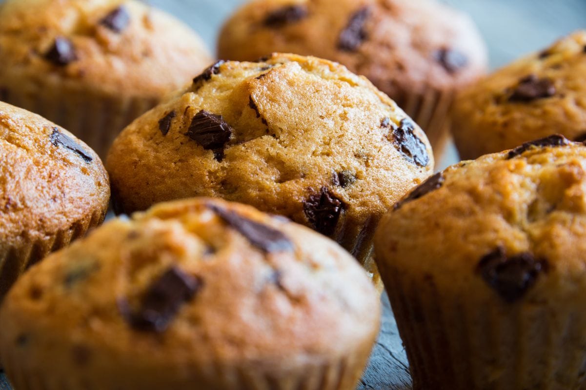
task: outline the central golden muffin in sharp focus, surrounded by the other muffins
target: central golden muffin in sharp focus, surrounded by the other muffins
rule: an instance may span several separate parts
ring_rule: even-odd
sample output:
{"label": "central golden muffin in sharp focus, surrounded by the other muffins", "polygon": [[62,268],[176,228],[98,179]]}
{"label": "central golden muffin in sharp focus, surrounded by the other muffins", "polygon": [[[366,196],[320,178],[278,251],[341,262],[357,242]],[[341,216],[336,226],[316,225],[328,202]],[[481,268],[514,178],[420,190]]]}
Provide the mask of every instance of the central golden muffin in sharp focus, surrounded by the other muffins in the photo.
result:
{"label": "central golden muffin in sharp focus, surrounded by the other muffins", "polygon": [[294,54],[216,63],[124,129],[107,159],[119,211],[251,204],[333,238],[376,279],[376,224],[433,167],[423,131],[369,81]]}

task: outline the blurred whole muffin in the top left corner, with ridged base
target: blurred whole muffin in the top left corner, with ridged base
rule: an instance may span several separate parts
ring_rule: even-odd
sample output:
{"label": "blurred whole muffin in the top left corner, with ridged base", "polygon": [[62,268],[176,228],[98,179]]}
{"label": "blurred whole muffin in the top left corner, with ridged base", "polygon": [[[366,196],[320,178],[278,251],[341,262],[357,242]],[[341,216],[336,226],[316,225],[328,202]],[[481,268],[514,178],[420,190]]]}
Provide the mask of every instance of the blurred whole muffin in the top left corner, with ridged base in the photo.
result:
{"label": "blurred whole muffin in the top left corner, with ridged base", "polygon": [[192,30],[139,1],[0,4],[0,100],[64,126],[99,155],[211,62]]}

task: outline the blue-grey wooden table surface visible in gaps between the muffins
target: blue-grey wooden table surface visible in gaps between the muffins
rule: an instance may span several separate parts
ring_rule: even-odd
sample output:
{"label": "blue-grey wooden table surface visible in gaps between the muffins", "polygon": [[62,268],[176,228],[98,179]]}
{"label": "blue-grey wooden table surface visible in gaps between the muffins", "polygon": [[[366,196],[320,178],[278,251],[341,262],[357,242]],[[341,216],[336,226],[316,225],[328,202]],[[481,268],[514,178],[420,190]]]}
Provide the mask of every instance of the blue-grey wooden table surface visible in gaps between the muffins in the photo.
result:
{"label": "blue-grey wooden table surface visible in gaps between the muffins", "polygon": [[[149,0],[192,26],[214,50],[222,21],[245,0]],[[405,0],[410,1],[410,0]],[[0,0],[1,2],[1,0]],[[586,28],[585,0],[444,0],[470,13],[488,42],[495,68],[524,53],[549,45],[557,37]],[[452,148],[438,168],[457,161]],[[386,296],[379,340],[358,389],[408,390],[407,357]],[[1,326],[1,324],[0,324]],[[1,330],[0,330],[1,331]],[[0,390],[10,390],[0,372]],[[18,390],[18,389],[17,389]],[[432,389],[430,389],[432,390]]]}

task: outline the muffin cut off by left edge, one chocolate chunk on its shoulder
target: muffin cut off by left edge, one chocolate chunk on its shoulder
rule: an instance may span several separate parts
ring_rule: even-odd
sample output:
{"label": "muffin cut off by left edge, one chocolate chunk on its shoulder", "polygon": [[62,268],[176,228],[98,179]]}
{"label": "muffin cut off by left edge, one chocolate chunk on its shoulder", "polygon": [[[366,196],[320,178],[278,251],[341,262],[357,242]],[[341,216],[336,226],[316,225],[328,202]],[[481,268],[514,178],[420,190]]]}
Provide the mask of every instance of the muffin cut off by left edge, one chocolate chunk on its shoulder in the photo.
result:
{"label": "muffin cut off by left edge, one chocolate chunk on its shoulder", "polygon": [[0,102],[0,301],[28,266],[100,224],[109,199],[108,175],[93,150]]}

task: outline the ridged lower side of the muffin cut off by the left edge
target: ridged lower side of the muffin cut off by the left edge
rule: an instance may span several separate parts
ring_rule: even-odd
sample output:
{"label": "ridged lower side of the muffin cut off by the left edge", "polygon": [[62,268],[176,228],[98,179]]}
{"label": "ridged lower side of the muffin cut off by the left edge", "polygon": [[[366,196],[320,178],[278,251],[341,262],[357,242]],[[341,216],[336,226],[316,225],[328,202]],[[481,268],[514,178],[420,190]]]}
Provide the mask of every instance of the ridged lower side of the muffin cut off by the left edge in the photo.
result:
{"label": "ridged lower side of the muffin cut off by the left edge", "polygon": [[53,235],[46,235],[38,240],[23,237],[21,245],[0,249],[0,302],[18,276],[29,266],[39,262],[50,252],[66,247],[71,241],[86,235],[88,230],[104,221],[105,213],[105,210],[96,211]]}

